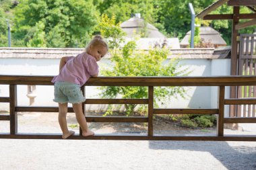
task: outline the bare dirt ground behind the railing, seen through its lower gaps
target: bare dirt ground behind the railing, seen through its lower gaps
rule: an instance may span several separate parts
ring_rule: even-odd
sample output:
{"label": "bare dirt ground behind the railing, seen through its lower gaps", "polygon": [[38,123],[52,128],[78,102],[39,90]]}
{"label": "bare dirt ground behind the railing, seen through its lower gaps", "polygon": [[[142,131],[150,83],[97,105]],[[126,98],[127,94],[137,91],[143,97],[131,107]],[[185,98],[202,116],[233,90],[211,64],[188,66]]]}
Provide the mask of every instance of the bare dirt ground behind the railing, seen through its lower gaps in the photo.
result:
{"label": "bare dirt ground behind the railing, seen through its lower gaps", "polygon": [[[87,116],[102,116],[100,113],[86,113]],[[2,121],[0,124],[0,132],[9,132],[9,121]],[[67,123],[70,130],[79,133],[79,126],[75,119],[75,114],[67,114]],[[164,135],[193,135],[193,134],[216,134],[214,128],[186,128],[174,123],[166,122],[155,118],[153,120],[154,134]],[[96,134],[147,134],[147,123],[99,123],[88,122],[88,126]],[[61,133],[58,122],[57,113],[18,113],[18,132],[19,133]],[[251,134],[251,132],[243,132],[241,130],[224,129],[224,134]]]}

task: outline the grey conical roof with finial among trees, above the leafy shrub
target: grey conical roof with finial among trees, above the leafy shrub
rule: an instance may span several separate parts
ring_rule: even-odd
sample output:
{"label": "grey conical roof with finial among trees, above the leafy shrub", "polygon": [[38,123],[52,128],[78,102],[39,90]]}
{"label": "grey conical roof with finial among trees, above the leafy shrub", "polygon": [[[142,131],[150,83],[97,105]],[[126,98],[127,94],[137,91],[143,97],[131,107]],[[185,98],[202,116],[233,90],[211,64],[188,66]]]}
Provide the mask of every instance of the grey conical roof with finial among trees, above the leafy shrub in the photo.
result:
{"label": "grey conical roof with finial among trees, above the leafy shrub", "polygon": [[[136,34],[141,32],[144,28],[145,21],[139,17],[131,17],[127,21],[121,24],[123,31],[127,33],[127,37],[134,37]],[[152,26],[152,24],[147,24],[146,26],[146,37],[147,38],[165,38],[164,34],[158,31],[157,28]]]}

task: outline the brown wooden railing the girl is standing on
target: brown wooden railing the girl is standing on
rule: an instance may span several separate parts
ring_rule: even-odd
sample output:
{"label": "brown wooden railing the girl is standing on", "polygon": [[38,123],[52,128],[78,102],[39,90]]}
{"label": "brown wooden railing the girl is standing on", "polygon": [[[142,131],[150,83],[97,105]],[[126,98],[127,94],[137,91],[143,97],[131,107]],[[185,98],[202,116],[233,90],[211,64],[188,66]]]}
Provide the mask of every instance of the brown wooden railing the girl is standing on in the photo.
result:
{"label": "brown wooden railing the girl is standing on", "polygon": [[[9,102],[10,114],[0,116],[0,120],[10,121],[10,133],[0,134],[0,138],[40,138],[61,139],[61,134],[19,134],[17,131],[17,112],[58,112],[57,107],[25,107],[17,105],[17,85],[53,85],[53,77],[0,75],[0,84],[9,85],[9,97],[0,97],[0,102]],[[256,123],[256,118],[224,118],[224,105],[256,104],[253,99],[225,99],[226,86],[256,85],[255,76],[232,77],[98,77],[91,78],[86,86],[147,86],[148,99],[87,99],[86,104],[148,104],[148,117],[96,117],[86,116],[88,122],[147,122],[146,135],[98,135],[83,137],[71,136],[69,139],[108,139],[108,140],[234,140],[256,141],[256,134],[250,136],[226,135],[224,124]],[[154,108],[154,87],[156,86],[217,86],[218,107],[214,109],[160,109]],[[82,90],[84,91],[84,87]],[[207,97],[207,96],[205,96]],[[83,108],[84,109],[84,108]],[[68,112],[73,112],[72,108]],[[216,114],[217,132],[210,136],[161,136],[153,133],[153,116],[156,114]],[[1,122],[0,122],[1,123]]]}

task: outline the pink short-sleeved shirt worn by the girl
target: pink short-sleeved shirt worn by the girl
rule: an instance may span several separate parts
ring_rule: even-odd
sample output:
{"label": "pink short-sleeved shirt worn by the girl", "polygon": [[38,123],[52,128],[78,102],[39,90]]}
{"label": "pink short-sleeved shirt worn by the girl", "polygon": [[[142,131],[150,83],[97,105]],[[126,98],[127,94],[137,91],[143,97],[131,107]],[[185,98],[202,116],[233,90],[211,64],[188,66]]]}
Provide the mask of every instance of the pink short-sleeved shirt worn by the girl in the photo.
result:
{"label": "pink short-sleeved shirt worn by the girl", "polygon": [[67,63],[61,69],[59,75],[53,77],[52,83],[56,81],[66,81],[69,83],[75,83],[84,85],[91,75],[98,74],[98,64],[96,59],[83,52],[77,56],[69,56]]}

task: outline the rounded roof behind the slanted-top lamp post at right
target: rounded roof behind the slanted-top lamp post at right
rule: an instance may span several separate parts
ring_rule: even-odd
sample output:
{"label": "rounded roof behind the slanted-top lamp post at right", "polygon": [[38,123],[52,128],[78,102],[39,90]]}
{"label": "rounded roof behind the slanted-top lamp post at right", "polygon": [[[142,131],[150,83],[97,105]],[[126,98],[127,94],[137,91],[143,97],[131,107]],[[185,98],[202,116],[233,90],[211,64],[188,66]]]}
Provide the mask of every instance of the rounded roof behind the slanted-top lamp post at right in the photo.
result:
{"label": "rounded roof behind the slanted-top lamp post at right", "polygon": [[[226,46],[225,40],[220,36],[220,33],[211,27],[200,27],[200,37],[205,40],[205,42],[211,42],[215,45]],[[189,46],[189,38],[191,37],[191,31],[187,32],[186,36],[181,40],[182,46]]]}

